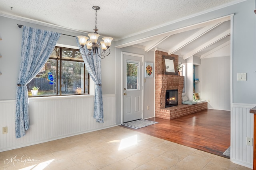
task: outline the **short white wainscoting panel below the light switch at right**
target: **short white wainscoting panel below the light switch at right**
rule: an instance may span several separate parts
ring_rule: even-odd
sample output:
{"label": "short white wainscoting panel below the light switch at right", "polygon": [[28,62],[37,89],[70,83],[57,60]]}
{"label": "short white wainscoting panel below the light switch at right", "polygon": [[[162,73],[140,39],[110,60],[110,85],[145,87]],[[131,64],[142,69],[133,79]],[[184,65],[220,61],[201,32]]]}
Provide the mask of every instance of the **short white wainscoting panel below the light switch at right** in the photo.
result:
{"label": "short white wainscoting panel below the light switch at right", "polygon": [[248,168],[253,166],[253,147],[246,145],[246,137],[253,138],[253,114],[250,109],[255,106],[236,103],[231,106],[230,160]]}

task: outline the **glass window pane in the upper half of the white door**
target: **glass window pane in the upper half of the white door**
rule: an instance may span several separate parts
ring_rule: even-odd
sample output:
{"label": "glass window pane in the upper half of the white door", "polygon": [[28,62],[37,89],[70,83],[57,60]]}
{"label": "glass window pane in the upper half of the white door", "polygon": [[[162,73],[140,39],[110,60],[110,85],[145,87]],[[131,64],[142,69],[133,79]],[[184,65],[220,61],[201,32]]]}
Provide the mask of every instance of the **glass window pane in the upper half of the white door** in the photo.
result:
{"label": "glass window pane in the upper half of the white door", "polygon": [[138,63],[126,62],[126,88],[127,90],[138,89]]}

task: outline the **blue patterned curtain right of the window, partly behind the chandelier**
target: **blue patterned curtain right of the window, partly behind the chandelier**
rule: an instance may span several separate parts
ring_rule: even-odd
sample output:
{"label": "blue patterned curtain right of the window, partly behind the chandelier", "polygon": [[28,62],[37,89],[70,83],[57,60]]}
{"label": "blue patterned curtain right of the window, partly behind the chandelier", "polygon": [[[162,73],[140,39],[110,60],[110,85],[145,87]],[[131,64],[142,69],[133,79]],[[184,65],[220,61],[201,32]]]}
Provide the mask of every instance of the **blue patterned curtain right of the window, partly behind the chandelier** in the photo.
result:
{"label": "blue patterned curtain right of the window, partly behind the chandelier", "polygon": [[[78,47],[80,48],[78,37],[76,37],[76,42],[78,44]],[[87,54],[89,54],[89,50],[87,49],[86,45],[84,46],[84,49]],[[95,99],[94,99],[94,114],[93,118],[96,119],[96,122],[104,123],[104,117],[103,117],[103,102],[102,102],[102,88],[101,88],[101,65],[100,65],[100,57],[98,54],[95,54],[93,56],[93,53],[91,56],[88,55],[82,55],[84,64],[88,70],[88,73],[90,74],[90,77],[96,84],[95,87]]]}

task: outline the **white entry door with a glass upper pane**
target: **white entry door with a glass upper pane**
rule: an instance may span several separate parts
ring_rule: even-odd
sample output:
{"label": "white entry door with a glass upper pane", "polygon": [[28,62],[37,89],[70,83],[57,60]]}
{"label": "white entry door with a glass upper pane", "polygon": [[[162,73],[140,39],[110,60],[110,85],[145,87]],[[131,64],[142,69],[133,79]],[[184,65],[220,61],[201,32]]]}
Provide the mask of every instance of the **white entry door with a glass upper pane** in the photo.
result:
{"label": "white entry door with a glass upper pane", "polygon": [[142,55],[123,53],[123,122],[142,119]]}

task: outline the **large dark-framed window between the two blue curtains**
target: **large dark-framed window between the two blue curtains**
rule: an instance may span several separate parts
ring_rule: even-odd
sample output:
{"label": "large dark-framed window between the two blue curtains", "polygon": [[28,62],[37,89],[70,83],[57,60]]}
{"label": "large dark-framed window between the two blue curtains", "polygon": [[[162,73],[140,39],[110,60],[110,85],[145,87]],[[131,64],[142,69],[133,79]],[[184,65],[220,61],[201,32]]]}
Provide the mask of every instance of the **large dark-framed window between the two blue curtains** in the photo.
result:
{"label": "large dark-framed window between the two blue curtains", "polygon": [[[37,94],[31,93],[38,87]],[[78,49],[55,47],[40,72],[27,84],[28,96],[89,94],[89,74]]]}

